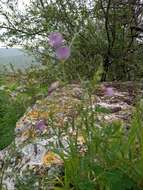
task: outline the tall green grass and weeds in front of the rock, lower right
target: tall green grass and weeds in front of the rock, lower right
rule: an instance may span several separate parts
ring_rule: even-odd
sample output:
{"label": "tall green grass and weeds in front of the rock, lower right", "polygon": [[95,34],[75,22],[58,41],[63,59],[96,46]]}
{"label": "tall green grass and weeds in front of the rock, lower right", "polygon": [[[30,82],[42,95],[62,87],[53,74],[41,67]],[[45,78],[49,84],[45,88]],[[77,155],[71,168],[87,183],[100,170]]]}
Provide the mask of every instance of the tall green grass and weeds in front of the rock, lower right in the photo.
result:
{"label": "tall green grass and weeds in front of the rock, lower right", "polygon": [[[71,138],[70,150],[65,155],[59,153],[65,164],[61,189],[141,190],[142,111],[142,107],[137,106],[128,130],[118,122],[103,123],[99,127],[95,112],[81,109],[81,123],[75,122],[77,134]],[[78,134],[85,140],[81,152]]]}

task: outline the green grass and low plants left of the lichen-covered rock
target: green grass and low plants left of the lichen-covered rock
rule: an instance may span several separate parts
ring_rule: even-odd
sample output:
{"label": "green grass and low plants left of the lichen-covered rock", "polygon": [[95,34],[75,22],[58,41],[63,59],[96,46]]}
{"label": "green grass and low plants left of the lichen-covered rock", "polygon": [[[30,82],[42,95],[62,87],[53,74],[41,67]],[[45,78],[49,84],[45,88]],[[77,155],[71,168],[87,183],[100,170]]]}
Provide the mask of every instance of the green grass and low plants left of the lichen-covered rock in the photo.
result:
{"label": "green grass and low plants left of the lichen-covered rock", "polygon": [[31,68],[26,73],[0,75],[0,149],[13,141],[16,122],[26,109],[47,94],[52,77],[43,78],[42,73]]}

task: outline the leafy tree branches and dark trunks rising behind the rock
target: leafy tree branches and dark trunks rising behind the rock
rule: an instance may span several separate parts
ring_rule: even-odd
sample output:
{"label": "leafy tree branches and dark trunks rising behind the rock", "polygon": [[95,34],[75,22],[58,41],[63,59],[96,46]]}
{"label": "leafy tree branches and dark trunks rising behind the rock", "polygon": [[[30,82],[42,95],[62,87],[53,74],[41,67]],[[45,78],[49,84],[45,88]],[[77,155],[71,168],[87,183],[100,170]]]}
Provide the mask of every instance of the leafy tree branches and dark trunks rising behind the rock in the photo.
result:
{"label": "leafy tree branches and dark trunks rising behind the rock", "polygon": [[[48,36],[58,31],[72,49],[65,70],[71,71],[70,78],[92,78],[101,57],[102,80],[140,79],[141,1],[32,0],[23,12],[14,0],[0,6],[4,18],[0,28],[5,31],[1,40],[24,46],[43,64],[57,62]],[[9,11],[5,12],[5,6]]]}

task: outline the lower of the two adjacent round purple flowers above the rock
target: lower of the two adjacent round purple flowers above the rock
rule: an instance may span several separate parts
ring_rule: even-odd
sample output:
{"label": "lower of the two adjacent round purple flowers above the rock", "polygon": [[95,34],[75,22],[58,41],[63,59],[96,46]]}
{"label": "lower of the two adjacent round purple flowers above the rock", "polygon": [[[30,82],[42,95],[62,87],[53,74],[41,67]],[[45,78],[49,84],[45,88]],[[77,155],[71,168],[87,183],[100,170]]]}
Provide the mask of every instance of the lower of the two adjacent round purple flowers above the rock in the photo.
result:
{"label": "lower of the two adjacent round purple flowers above the rock", "polygon": [[66,60],[70,57],[71,51],[67,46],[62,46],[56,49],[56,57],[59,60]]}

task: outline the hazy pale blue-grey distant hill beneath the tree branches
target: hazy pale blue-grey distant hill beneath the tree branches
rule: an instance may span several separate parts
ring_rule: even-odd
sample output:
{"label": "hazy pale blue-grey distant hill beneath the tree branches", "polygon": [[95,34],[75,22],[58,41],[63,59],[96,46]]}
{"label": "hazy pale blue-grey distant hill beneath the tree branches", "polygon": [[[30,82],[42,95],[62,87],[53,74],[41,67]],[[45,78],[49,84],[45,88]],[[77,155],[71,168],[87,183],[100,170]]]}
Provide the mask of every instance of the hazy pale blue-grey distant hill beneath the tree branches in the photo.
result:
{"label": "hazy pale blue-grey distant hill beneath the tree branches", "polygon": [[18,48],[0,48],[0,70],[3,70],[3,66],[10,68],[10,64],[15,69],[25,69],[31,65],[39,65],[34,57],[26,54],[22,49]]}

